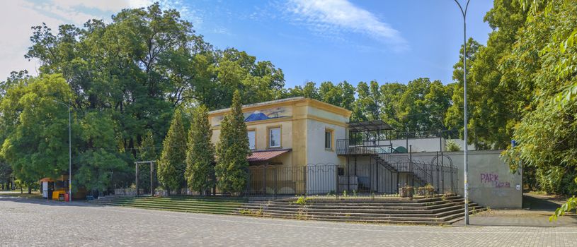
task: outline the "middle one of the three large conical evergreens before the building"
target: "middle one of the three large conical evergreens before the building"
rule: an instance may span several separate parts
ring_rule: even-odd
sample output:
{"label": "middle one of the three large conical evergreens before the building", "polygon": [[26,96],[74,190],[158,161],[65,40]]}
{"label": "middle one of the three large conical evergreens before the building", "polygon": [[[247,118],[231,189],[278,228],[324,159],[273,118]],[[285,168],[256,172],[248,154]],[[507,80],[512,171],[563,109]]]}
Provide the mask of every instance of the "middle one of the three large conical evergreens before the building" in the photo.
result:
{"label": "middle one of the three large conical evergreens before the building", "polygon": [[193,121],[188,131],[186,152],[186,181],[193,191],[205,194],[215,184],[215,147],[210,139],[212,130],[205,106],[193,112]]}

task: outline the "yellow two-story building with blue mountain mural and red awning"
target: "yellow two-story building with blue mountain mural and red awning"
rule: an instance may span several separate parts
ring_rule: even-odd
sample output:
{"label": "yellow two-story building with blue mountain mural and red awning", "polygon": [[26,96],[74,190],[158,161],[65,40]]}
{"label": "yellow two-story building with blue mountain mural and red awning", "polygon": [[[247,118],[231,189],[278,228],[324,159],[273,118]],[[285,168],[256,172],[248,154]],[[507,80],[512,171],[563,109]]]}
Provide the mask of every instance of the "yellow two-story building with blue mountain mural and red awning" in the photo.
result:
{"label": "yellow two-story building with blue mountain mural and red awning", "polygon": [[[337,166],[345,163],[345,157],[336,153],[336,140],[347,138],[349,110],[304,97],[248,104],[242,109],[252,150],[248,192],[304,193],[305,187],[310,192],[315,181],[336,184]],[[228,108],[209,113],[215,145],[220,122],[229,112]],[[314,167],[323,171],[315,173]]]}

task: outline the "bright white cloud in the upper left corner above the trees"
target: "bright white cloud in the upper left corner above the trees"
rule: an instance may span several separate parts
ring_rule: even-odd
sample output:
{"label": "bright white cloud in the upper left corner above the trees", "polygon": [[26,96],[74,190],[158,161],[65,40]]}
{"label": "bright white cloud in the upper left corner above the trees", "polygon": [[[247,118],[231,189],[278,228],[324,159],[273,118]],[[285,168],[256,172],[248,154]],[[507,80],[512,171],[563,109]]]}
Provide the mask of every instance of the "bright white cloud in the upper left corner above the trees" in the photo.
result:
{"label": "bright white cloud in the upper left corner above the trees", "polygon": [[[181,1],[159,1],[162,8],[176,8],[181,17],[195,26],[202,23],[195,11]],[[0,1],[0,81],[11,71],[28,70],[37,75],[38,61],[24,58],[32,45],[30,27],[46,23],[53,32],[64,23],[82,25],[89,19],[110,21],[110,16],[122,8],[142,8],[153,4],[153,0],[50,0],[50,1]]]}

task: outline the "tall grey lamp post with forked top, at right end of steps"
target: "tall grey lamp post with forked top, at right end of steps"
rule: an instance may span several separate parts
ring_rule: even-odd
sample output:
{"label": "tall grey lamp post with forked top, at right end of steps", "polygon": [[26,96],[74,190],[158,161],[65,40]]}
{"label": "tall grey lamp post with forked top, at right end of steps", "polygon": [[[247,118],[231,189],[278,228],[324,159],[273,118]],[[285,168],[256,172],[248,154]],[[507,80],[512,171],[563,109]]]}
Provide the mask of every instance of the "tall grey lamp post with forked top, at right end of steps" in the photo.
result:
{"label": "tall grey lamp post with forked top, at right end of steps", "polygon": [[463,15],[463,119],[464,119],[464,198],[465,198],[465,225],[469,224],[469,181],[467,180],[467,173],[469,167],[467,165],[467,8],[469,8],[469,1],[465,8],[459,4],[459,1],[454,0],[459,6]]}

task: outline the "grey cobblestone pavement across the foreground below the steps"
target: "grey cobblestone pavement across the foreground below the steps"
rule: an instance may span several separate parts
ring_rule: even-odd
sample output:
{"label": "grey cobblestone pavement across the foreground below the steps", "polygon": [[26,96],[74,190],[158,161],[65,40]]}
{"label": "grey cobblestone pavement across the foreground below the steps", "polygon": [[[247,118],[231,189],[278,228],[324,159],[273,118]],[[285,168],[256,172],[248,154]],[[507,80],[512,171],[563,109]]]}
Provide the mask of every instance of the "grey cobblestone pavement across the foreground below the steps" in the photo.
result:
{"label": "grey cobblestone pavement across the foreground below the steps", "polygon": [[577,227],[348,224],[0,195],[0,246],[577,246]]}

